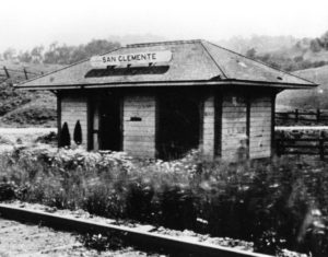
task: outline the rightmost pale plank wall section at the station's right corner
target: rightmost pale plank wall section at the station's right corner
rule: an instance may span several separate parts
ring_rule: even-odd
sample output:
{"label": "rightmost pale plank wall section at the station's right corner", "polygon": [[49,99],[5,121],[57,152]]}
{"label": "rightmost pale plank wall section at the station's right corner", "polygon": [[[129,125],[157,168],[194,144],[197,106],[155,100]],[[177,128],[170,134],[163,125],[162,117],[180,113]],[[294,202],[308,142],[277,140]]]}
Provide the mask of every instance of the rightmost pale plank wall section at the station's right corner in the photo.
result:
{"label": "rightmost pale plank wall section at the station's right corner", "polygon": [[250,102],[249,157],[271,155],[272,103],[270,96],[253,97]]}

